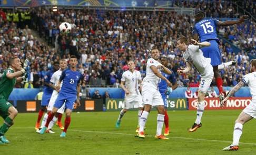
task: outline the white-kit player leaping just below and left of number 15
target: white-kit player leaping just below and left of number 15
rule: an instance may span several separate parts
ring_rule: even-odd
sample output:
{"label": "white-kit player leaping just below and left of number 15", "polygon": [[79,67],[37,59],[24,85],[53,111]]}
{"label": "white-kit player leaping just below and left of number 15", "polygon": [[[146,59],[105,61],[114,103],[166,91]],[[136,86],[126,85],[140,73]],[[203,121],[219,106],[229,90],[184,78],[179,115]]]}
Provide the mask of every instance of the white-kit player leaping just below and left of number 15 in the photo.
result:
{"label": "white-kit player leaping just below and left of number 15", "polygon": [[186,68],[184,70],[178,70],[179,74],[188,73],[192,69],[192,65],[201,75],[201,83],[198,92],[198,105],[196,110],[196,120],[192,127],[189,129],[190,132],[194,132],[196,129],[202,126],[201,118],[204,110],[204,97],[211,85],[213,79],[213,68],[211,65],[211,59],[203,57],[203,52],[199,49],[200,47],[210,46],[211,43],[197,42],[191,39],[193,45],[188,45],[187,39],[181,37],[177,41],[177,47],[183,51],[183,57],[186,61]]}

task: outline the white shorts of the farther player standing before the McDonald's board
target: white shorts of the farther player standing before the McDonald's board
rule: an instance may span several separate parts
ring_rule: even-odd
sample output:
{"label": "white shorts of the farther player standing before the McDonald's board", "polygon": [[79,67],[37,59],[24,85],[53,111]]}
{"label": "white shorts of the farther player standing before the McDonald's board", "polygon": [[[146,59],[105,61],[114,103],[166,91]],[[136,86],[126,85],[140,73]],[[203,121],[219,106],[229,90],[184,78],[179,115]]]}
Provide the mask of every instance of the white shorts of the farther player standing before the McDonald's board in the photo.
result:
{"label": "white shorts of the farther player standing before the McDonald's board", "polygon": [[124,109],[131,109],[131,108],[141,108],[142,105],[142,97],[141,94],[133,93],[129,95],[125,95],[124,98]]}

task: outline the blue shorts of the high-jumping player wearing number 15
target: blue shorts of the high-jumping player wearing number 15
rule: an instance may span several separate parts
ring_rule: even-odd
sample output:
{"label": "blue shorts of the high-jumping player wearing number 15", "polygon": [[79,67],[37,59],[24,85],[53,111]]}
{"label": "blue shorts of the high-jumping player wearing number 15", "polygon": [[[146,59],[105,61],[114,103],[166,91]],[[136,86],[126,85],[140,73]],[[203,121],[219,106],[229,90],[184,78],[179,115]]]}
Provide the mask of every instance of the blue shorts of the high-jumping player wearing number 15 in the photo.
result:
{"label": "blue shorts of the high-jumping player wearing number 15", "polygon": [[216,66],[221,64],[221,53],[219,49],[219,44],[216,40],[208,40],[211,43],[209,47],[203,47],[203,56],[205,58],[211,58],[211,65]]}

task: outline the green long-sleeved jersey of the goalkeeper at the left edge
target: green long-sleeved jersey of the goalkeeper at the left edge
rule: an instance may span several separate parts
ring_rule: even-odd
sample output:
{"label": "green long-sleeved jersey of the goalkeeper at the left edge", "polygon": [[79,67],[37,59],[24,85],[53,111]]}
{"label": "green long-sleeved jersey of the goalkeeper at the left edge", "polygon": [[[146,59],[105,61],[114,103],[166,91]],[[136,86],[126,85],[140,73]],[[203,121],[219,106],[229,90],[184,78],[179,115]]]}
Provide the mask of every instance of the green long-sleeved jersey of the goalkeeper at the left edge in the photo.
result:
{"label": "green long-sleeved jersey of the goalkeeper at the left edge", "polygon": [[3,96],[6,101],[8,101],[9,95],[12,93],[16,82],[16,78],[8,79],[6,76],[7,73],[14,73],[14,71],[12,68],[5,70],[0,81],[0,96]]}

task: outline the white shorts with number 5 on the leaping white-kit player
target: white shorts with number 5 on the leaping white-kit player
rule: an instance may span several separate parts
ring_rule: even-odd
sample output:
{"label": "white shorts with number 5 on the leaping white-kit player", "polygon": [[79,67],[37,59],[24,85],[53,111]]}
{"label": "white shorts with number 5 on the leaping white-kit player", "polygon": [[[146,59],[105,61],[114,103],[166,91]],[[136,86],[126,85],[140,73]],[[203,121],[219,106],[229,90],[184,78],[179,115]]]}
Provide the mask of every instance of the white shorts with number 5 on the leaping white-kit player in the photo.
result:
{"label": "white shorts with number 5 on the leaping white-kit player", "polygon": [[[211,70],[211,69],[210,69]],[[207,93],[211,83],[212,83],[212,79],[213,79],[213,70],[209,71],[208,74],[206,74],[205,76],[201,76],[201,82],[199,85],[199,91],[202,93]]]}

